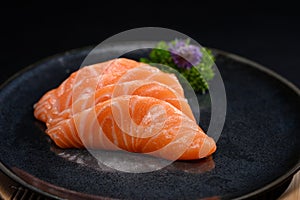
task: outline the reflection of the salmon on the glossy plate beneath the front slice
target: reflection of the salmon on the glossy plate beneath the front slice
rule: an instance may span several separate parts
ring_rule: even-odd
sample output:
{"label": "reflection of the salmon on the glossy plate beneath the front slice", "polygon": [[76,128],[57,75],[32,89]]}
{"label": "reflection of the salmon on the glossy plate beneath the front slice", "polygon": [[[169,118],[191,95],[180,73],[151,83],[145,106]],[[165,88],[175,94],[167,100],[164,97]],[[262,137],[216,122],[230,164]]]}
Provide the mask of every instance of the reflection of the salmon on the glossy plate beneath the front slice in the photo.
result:
{"label": "reflection of the salmon on the glossy plate beneath the front slice", "polygon": [[[116,169],[112,169],[105,165],[104,163],[98,162],[97,159],[93,155],[97,155],[97,151],[102,150],[94,150],[93,155],[91,155],[87,150],[82,149],[61,149],[56,145],[51,146],[51,151],[53,151],[57,156],[62,157],[70,162],[77,163],[84,167],[90,167],[94,170],[98,171],[107,171],[107,172],[116,172]],[[103,153],[105,152],[105,153]],[[106,155],[106,159],[108,162],[114,163],[114,165],[124,165],[125,167],[132,165],[132,160],[135,160],[135,164],[142,165],[144,168],[151,165],[157,165],[157,162],[160,162],[161,159],[152,156],[146,156],[142,154],[127,154],[124,156],[126,152],[117,152],[117,151],[102,151],[101,155]],[[131,158],[128,162],[123,158],[127,158],[128,156],[134,157]],[[142,158],[141,158],[142,157]],[[143,161],[143,162],[141,162]],[[146,161],[146,162],[145,162]],[[159,163],[158,163],[159,164]],[[212,156],[209,156],[200,160],[193,161],[176,161],[171,165],[163,168],[163,171],[183,171],[187,173],[195,173],[200,174],[204,172],[208,172],[215,167],[215,163],[213,161]],[[152,166],[151,166],[152,168]]]}

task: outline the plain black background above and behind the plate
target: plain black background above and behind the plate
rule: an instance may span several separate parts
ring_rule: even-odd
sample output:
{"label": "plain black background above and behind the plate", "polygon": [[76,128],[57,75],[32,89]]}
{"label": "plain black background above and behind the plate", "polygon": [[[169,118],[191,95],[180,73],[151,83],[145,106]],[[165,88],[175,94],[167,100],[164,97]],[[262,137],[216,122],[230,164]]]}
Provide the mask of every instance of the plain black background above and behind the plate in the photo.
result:
{"label": "plain black background above and behind the plate", "polygon": [[70,7],[26,2],[3,7],[0,83],[47,56],[96,45],[131,28],[157,26],[187,34],[203,46],[254,60],[300,86],[299,16],[262,15],[267,13],[264,9],[247,16],[216,16],[222,10],[231,12],[208,5],[144,10],[148,4],[131,10],[120,5],[121,11],[88,3]]}

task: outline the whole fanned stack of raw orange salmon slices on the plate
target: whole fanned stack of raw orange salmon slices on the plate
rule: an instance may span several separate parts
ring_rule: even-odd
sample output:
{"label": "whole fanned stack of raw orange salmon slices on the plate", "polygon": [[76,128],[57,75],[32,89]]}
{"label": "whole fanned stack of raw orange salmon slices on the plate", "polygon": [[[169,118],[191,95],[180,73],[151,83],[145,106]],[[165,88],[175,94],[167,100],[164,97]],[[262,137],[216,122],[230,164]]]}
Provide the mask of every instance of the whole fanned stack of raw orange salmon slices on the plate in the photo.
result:
{"label": "whole fanned stack of raw orange salmon slices on the plate", "polygon": [[119,58],[74,72],[35,105],[61,148],[126,150],[166,159],[211,155],[174,74]]}

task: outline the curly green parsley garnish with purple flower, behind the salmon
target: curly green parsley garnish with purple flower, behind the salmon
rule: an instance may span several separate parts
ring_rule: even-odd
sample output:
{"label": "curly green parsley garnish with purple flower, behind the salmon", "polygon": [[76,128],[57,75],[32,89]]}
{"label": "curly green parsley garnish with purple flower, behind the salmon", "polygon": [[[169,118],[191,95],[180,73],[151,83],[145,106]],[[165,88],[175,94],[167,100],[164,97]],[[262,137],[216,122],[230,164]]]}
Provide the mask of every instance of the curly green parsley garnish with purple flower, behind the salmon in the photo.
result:
{"label": "curly green parsley garnish with purple flower, behind the salmon", "polygon": [[189,40],[158,42],[148,58],[140,58],[144,63],[166,65],[177,70],[195,92],[202,93],[208,90],[208,81],[214,77],[214,60],[211,50],[191,45]]}

